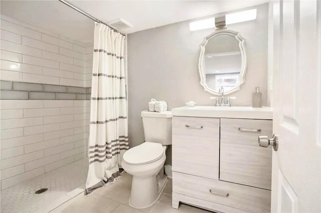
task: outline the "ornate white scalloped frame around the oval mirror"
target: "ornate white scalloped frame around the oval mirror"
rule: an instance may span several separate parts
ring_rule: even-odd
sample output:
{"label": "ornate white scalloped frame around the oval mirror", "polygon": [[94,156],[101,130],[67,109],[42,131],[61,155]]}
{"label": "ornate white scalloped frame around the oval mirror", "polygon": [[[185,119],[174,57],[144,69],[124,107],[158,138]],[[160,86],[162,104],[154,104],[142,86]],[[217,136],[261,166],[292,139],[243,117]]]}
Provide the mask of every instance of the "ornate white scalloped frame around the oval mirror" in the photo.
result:
{"label": "ornate white scalloped frame around the oval mirror", "polygon": [[242,75],[240,76],[240,82],[238,83],[238,85],[234,89],[224,92],[224,94],[231,94],[235,91],[240,90],[241,86],[245,82],[245,73],[246,73],[246,68],[247,68],[246,49],[245,49],[245,45],[244,45],[245,39],[240,35],[239,32],[229,30],[229,29],[219,29],[219,30],[211,33],[210,35],[206,36],[200,45],[200,47],[201,47],[201,52],[200,52],[200,57],[199,57],[200,84],[203,86],[205,91],[207,91],[211,94],[214,94],[214,95],[220,95],[220,94],[207,86],[206,80],[204,77],[205,73],[203,73],[202,60],[204,59],[205,46],[206,46],[207,42],[210,39],[212,39],[213,37],[218,36],[218,35],[222,35],[222,34],[232,35],[239,41],[239,47],[241,50],[241,57],[242,57],[242,66],[241,66]]}

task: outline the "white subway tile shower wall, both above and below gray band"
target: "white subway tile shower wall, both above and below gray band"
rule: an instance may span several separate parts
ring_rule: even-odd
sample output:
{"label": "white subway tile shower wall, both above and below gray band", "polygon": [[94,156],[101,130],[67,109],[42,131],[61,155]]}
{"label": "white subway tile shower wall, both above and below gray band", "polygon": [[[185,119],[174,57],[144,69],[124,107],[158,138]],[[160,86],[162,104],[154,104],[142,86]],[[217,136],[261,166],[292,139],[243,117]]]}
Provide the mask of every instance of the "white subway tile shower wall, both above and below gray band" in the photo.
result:
{"label": "white subway tile shower wall, both above and below gray band", "polygon": [[[45,85],[48,92],[91,86],[92,44],[5,15],[0,21],[1,80],[63,85]],[[33,86],[31,95],[42,98]],[[0,100],[1,189],[86,157],[89,107],[89,100]]]}

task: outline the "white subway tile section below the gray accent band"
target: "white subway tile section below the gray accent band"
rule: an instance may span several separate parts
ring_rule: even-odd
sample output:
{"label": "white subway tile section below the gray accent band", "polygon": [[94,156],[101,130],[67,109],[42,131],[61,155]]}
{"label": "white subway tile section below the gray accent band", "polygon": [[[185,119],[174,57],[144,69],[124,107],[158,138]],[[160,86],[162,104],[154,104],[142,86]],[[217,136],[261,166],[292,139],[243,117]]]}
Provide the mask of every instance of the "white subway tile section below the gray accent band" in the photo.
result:
{"label": "white subway tile section below the gray accent band", "polygon": [[85,157],[89,106],[90,100],[0,100],[2,189]]}

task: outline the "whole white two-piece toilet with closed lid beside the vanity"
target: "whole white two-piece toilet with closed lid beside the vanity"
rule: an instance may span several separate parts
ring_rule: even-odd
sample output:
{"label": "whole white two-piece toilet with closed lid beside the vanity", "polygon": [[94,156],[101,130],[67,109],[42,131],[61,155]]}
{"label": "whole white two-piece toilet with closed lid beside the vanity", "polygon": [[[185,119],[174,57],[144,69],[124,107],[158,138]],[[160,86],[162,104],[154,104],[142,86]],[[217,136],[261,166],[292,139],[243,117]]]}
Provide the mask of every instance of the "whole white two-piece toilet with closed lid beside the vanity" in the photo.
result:
{"label": "whole white two-piece toilet with closed lid beside the vanity", "polygon": [[157,201],[167,183],[166,149],[172,144],[172,112],[141,112],[145,142],[128,149],[121,162],[132,175],[129,205],[145,208]]}

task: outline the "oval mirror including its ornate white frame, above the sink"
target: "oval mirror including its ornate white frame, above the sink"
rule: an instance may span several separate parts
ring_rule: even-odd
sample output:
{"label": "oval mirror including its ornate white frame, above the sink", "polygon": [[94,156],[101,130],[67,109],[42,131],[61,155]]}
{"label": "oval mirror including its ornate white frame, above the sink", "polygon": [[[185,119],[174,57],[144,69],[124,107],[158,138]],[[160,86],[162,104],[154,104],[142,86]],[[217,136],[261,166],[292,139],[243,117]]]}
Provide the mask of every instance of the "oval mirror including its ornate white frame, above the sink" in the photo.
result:
{"label": "oval mirror including its ornate white frame, above the sink", "polygon": [[228,29],[217,30],[204,38],[199,58],[201,85],[205,91],[219,95],[240,89],[245,81],[246,51],[244,38]]}

